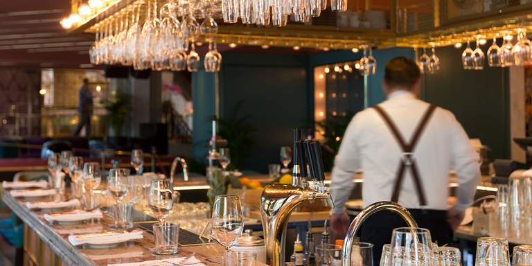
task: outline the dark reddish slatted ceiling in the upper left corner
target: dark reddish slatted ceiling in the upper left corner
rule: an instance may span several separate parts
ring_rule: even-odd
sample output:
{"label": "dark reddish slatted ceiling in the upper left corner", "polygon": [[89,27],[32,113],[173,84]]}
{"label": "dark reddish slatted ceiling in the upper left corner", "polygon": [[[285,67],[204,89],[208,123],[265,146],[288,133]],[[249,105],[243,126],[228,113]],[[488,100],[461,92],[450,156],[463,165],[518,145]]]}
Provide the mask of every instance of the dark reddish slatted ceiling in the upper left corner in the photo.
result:
{"label": "dark reddish slatted ceiling in the upper left corner", "polygon": [[0,67],[88,67],[94,35],[59,24],[69,0],[0,1]]}

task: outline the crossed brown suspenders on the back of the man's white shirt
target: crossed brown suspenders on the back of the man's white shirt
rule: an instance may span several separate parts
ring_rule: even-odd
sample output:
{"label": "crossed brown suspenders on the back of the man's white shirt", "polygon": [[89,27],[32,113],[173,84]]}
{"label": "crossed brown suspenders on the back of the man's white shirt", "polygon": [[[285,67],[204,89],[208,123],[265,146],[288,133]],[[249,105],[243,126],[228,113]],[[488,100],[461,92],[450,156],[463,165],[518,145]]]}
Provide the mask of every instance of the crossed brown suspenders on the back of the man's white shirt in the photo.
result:
{"label": "crossed brown suspenders on the back of the man's white shirt", "polygon": [[416,186],[416,192],[418,193],[419,204],[420,206],[427,205],[427,198],[425,197],[425,192],[423,191],[423,185],[421,184],[418,166],[416,166],[416,161],[414,160],[413,155],[414,148],[416,148],[416,144],[420,139],[421,133],[423,133],[423,130],[425,130],[425,127],[427,127],[429,118],[434,112],[434,109],[436,109],[436,105],[430,105],[429,108],[427,108],[427,111],[425,112],[425,114],[423,114],[423,117],[419,121],[418,126],[416,127],[416,130],[414,131],[414,134],[412,135],[412,138],[409,143],[405,142],[405,139],[403,139],[396,124],[391,121],[390,116],[386,112],[384,112],[384,109],[382,109],[382,107],[375,105],[373,109],[375,109],[375,111],[380,114],[380,116],[384,120],[384,123],[386,123],[389,130],[391,131],[391,134],[393,134],[393,137],[396,139],[397,143],[402,149],[402,158],[399,161],[399,168],[397,171],[396,180],[393,184],[391,201],[398,202],[399,193],[402,186],[402,179],[404,179],[405,177],[405,168],[409,167],[412,172],[412,177],[414,177],[414,185]]}

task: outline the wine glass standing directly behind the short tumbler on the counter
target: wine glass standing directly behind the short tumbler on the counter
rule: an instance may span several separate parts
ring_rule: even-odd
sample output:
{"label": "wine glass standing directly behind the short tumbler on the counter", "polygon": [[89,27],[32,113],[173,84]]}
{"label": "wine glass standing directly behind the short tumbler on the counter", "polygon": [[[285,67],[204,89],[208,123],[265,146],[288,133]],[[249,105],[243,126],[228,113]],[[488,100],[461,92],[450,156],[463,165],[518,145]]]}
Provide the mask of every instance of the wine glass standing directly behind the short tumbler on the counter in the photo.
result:
{"label": "wine glass standing directly behind the short tumbler on the counter", "polygon": [[150,183],[148,206],[152,210],[159,223],[163,223],[166,216],[172,210],[174,194],[170,180],[166,178],[154,178]]}

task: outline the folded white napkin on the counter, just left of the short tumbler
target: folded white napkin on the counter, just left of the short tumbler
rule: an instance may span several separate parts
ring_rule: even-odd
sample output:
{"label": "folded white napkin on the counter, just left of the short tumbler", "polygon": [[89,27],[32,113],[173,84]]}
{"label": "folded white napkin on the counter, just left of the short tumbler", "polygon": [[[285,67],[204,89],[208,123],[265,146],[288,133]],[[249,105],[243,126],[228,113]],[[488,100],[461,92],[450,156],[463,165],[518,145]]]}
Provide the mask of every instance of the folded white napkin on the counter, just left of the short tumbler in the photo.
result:
{"label": "folded white napkin on the counter, just left of the short tumbler", "polygon": [[105,232],[105,233],[91,233],[87,235],[69,236],[69,242],[76,246],[82,244],[113,244],[121,243],[134,239],[142,239],[143,231],[134,230],[131,232]]}

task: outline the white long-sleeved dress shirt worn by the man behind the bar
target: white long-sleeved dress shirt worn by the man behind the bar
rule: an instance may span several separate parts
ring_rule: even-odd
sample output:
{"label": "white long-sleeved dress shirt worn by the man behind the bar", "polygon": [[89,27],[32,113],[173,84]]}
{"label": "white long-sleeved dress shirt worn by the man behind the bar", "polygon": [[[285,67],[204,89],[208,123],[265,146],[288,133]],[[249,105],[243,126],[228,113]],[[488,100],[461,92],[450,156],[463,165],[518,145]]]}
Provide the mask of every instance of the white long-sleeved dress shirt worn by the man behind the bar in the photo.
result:
{"label": "white long-sleeved dress shirt worn by the man behind the bar", "polygon": [[[380,107],[409,143],[429,104],[418,100],[409,91],[395,91]],[[347,127],[332,168],[333,213],[344,211],[344,204],[353,189],[355,171],[361,168],[364,171],[364,207],[389,201],[401,154],[396,139],[375,109],[357,113]],[[440,107],[434,110],[414,149],[414,160],[427,197],[427,206],[423,209],[448,209],[449,171],[452,169],[456,171],[459,183],[454,208],[464,210],[472,204],[480,178],[479,155],[451,112]],[[398,203],[409,209],[422,209],[409,167],[405,169]]]}

